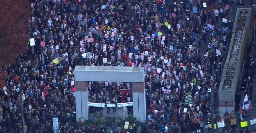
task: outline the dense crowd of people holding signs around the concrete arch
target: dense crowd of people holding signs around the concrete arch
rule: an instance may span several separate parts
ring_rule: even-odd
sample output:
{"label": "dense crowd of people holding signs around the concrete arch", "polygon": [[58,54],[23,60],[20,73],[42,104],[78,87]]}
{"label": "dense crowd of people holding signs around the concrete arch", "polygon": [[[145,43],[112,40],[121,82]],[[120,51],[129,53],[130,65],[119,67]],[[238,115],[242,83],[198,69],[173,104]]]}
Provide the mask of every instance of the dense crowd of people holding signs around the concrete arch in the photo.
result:
{"label": "dense crowd of people holding signs around the concrete arch", "polygon": [[[69,125],[76,123],[76,65],[144,67],[146,121],[153,126],[147,123],[142,132],[203,132],[211,120],[207,90],[216,97],[234,1],[95,2],[30,0],[29,35],[35,45],[29,42],[27,52],[3,70],[0,133],[20,132],[20,100],[25,133],[53,132],[53,117],[59,118],[58,133],[86,132]],[[132,101],[128,84],[91,82],[89,100]],[[185,101],[185,94],[192,101]],[[98,129],[90,131],[102,133]]]}

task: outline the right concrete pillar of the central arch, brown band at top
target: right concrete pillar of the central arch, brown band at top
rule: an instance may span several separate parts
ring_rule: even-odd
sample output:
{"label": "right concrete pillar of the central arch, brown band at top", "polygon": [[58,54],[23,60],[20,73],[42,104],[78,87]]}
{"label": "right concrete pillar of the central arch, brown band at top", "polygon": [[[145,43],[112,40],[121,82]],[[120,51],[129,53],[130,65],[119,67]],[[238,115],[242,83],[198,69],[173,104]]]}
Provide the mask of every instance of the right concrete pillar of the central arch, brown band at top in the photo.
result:
{"label": "right concrete pillar of the central arch, brown band at top", "polygon": [[145,122],[146,120],[146,96],[145,83],[133,82],[133,117],[136,121]]}

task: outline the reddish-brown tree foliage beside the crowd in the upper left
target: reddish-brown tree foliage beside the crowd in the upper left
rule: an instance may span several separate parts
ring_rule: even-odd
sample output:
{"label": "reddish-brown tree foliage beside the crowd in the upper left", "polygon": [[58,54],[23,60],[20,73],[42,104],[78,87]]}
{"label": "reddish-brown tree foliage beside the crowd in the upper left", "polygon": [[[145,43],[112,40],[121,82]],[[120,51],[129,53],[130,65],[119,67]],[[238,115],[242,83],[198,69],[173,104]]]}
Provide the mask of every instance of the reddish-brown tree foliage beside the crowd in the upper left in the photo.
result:
{"label": "reddish-brown tree foliage beside the crowd in the upper left", "polygon": [[[14,63],[27,50],[29,2],[0,0],[0,67]],[[1,70],[0,80],[4,79]],[[0,81],[0,87],[4,81]]]}

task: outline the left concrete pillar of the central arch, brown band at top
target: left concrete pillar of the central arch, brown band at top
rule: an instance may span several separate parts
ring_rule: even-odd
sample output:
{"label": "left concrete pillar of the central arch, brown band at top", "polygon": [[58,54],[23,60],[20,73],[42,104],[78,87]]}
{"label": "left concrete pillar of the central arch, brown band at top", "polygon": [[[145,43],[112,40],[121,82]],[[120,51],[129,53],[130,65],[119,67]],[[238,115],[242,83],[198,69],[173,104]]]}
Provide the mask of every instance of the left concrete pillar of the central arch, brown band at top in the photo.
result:
{"label": "left concrete pillar of the central arch, brown band at top", "polygon": [[75,81],[75,106],[76,106],[76,121],[79,118],[88,120],[89,107],[88,107],[88,82]]}

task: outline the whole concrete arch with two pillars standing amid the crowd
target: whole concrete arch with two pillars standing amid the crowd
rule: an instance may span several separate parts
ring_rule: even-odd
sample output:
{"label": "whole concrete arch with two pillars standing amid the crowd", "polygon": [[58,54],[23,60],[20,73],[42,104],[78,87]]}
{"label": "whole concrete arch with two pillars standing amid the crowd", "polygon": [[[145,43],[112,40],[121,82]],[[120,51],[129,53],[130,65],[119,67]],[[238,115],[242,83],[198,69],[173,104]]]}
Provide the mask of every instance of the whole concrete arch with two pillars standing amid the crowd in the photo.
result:
{"label": "whole concrete arch with two pillars standing amid the crowd", "polygon": [[88,82],[132,82],[133,116],[145,122],[146,101],[143,67],[79,66],[74,70],[76,120],[88,120]]}

